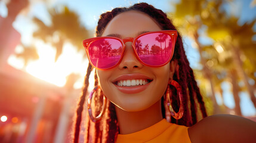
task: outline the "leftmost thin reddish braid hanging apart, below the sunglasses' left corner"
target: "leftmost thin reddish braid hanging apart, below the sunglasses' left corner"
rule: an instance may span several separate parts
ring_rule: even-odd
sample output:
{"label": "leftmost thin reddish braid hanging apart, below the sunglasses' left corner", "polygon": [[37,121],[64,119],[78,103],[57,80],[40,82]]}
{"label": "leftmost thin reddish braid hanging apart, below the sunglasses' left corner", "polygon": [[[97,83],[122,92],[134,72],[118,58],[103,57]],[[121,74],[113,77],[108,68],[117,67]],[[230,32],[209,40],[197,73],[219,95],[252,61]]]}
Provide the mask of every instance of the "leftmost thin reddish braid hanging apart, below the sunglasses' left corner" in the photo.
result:
{"label": "leftmost thin reddish braid hanging apart, below the sunglasses' left corner", "polygon": [[84,80],[84,90],[82,92],[82,96],[80,97],[79,104],[76,108],[76,122],[75,122],[75,134],[74,134],[74,139],[73,142],[77,143],[79,140],[79,132],[80,132],[80,125],[81,125],[81,120],[82,120],[82,111],[84,109],[84,102],[85,102],[85,95],[87,95],[87,89],[89,85],[89,76],[91,74],[92,66],[89,63],[88,68],[87,68],[87,74],[85,76]]}

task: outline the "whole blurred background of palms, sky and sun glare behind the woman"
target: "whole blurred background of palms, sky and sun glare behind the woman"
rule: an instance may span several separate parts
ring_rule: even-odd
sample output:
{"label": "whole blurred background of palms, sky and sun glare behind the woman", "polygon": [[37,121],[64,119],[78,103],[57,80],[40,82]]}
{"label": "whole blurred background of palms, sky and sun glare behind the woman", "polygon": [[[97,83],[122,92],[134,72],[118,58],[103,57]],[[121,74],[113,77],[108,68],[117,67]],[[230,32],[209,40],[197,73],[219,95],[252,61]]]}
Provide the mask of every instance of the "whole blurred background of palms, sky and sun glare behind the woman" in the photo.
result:
{"label": "whole blurred background of palms, sky and sun glare behind the woman", "polygon": [[183,35],[208,115],[256,121],[255,0],[0,0],[0,142],[71,141],[88,65],[82,40],[101,13],[137,2],[163,10]]}

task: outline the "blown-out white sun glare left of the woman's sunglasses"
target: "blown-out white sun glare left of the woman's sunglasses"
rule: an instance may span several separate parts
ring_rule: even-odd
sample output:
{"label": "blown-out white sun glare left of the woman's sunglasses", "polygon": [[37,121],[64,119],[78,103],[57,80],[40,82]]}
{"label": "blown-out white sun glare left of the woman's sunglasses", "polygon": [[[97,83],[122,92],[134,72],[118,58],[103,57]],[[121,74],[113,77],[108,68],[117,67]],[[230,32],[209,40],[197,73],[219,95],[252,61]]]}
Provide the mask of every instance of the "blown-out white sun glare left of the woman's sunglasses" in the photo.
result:
{"label": "blown-out white sun glare left of the woman's sunglasses", "polygon": [[83,59],[84,52],[78,52],[72,44],[64,43],[63,52],[55,62],[56,50],[50,43],[44,43],[36,39],[35,46],[39,55],[38,60],[29,61],[27,66],[24,67],[23,60],[17,58],[16,55],[11,55],[8,59],[8,64],[17,69],[24,69],[32,76],[60,87],[66,84],[66,77],[69,74],[79,74],[81,79],[78,79],[74,88],[78,89],[83,86],[84,76],[88,66],[88,60]]}

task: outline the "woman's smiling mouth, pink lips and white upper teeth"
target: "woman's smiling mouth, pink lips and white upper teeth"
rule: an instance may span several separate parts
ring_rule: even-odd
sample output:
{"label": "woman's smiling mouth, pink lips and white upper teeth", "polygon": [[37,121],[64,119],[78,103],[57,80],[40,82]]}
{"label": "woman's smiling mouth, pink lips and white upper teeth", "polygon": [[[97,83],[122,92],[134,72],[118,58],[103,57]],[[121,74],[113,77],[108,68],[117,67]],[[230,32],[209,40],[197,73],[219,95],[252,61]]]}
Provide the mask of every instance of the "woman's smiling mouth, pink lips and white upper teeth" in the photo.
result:
{"label": "woman's smiling mouth, pink lips and white upper teeth", "polygon": [[113,84],[116,88],[125,94],[136,94],[144,91],[147,86],[152,82],[152,78],[145,76],[144,74],[132,73],[123,74],[113,80]]}

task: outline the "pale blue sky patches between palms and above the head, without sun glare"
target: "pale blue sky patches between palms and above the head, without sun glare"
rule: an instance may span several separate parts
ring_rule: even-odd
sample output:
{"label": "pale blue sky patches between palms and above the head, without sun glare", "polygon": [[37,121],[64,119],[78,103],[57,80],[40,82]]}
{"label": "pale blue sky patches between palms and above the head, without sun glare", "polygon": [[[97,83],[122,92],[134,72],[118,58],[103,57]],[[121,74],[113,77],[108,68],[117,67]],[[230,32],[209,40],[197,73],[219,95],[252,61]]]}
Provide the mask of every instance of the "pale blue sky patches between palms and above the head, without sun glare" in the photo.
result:
{"label": "pale blue sky patches between palms and above the head, without sun glare", "polygon": [[[129,5],[135,4],[137,2],[147,2],[152,4],[154,7],[163,10],[164,12],[174,11],[172,4],[178,2],[178,0],[147,0],[147,1],[135,1],[135,0],[109,0],[109,1],[100,1],[100,0],[55,0],[49,1],[48,4],[45,4],[41,1],[31,0],[30,10],[26,15],[19,15],[14,22],[14,28],[21,33],[21,41],[26,45],[30,44],[32,41],[32,33],[36,30],[36,26],[32,23],[32,17],[38,17],[45,24],[51,24],[49,14],[47,12],[47,6],[52,8],[59,8],[59,5],[67,5],[70,10],[75,11],[79,14],[81,18],[81,24],[87,27],[88,30],[94,32],[95,26],[97,24],[98,18],[101,13],[110,11],[115,7],[127,7]],[[236,15],[239,17],[239,24],[245,22],[250,22],[256,18],[256,7],[251,7],[251,0],[235,0],[234,4],[227,4],[224,6],[225,10],[230,15]],[[58,10],[58,9],[57,9]],[[5,8],[4,2],[0,1],[0,15],[5,17],[7,15],[7,10]],[[256,31],[256,26],[254,26]],[[255,38],[256,39],[256,38]],[[211,43],[211,40],[208,38],[201,37],[200,41],[204,43]],[[197,49],[192,48],[192,41],[189,38],[184,38],[184,46],[186,49],[187,57],[190,61],[190,64],[193,68],[199,67],[199,54]],[[224,89],[224,102],[225,104],[233,108],[235,106],[233,102],[233,97],[230,91],[230,85],[223,83]],[[240,93],[241,97],[240,105],[242,106],[242,113],[245,116],[255,115],[256,110],[253,107],[249,97],[246,93]]]}

